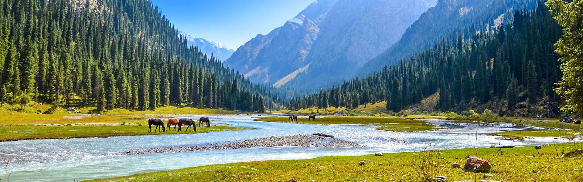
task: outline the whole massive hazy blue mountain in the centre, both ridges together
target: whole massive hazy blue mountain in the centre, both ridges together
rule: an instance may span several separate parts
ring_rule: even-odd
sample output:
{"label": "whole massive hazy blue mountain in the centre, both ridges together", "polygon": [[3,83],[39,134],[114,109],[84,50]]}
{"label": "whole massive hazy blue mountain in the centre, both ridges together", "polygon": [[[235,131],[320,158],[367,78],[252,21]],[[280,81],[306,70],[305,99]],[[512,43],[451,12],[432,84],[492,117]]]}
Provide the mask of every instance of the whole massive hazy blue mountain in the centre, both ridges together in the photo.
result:
{"label": "whole massive hazy blue mountain in the centre, both ridges together", "polygon": [[319,0],[226,61],[251,81],[276,88],[352,75],[387,50],[437,0]]}

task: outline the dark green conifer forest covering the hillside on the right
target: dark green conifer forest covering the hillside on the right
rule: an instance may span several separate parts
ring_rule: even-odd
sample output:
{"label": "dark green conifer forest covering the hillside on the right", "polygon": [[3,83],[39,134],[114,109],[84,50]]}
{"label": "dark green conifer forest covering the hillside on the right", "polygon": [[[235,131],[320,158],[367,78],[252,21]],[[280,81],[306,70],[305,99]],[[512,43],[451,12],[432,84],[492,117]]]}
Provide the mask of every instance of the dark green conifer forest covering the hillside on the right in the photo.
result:
{"label": "dark green conifer forest covering the hillside on the right", "polygon": [[353,108],[387,100],[388,110],[398,112],[438,92],[436,107],[443,111],[556,116],[559,111],[550,109],[556,106],[547,106],[560,99],[553,92],[562,75],[553,44],[561,27],[549,9],[539,2],[535,10],[515,10],[512,24],[490,31],[476,27],[366,78],[292,99],[289,108]]}

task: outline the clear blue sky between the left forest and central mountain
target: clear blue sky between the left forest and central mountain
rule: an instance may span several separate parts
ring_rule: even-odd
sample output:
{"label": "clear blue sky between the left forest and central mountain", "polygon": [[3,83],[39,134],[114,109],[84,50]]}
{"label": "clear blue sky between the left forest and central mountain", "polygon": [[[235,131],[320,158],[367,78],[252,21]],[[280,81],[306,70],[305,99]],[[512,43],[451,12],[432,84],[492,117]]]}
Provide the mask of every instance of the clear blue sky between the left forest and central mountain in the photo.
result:
{"label": "clear blue sky between the left forest and central mountain", "polygon": [[315,0],[151,0],[179,30],[236,50]]}

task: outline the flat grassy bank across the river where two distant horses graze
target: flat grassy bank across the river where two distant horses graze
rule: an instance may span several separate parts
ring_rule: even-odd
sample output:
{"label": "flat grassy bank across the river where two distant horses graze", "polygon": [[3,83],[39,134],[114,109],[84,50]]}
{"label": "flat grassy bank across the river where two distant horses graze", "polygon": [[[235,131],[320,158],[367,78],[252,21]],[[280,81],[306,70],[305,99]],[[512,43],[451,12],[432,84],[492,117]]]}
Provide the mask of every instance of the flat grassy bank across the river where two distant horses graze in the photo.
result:
{"label": "flat grassy bank across the river where two distant horses graze", "polygon": [[[292,122],[287,117],[261,117],[255,121],[269,122]],[[326,116],[308,120],[308,118],[298,118],[293,121],[302,124],[361,124],[378,127],[377,129],[394,132],[415,132],[438,129],[437,125],[427,124],[425,121],[408,120],[397,117],[354,117],[354,116]]]}

